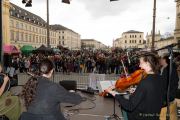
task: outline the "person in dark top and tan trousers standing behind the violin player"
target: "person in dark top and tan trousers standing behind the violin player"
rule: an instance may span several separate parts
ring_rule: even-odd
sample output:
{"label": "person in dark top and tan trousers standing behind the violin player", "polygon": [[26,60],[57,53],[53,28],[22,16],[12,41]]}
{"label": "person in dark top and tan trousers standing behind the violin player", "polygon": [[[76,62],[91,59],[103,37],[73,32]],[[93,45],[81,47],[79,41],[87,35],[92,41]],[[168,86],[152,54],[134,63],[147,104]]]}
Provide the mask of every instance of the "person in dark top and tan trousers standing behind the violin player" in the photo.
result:
{"label": "person in dark top and tan trousers standing behind the violin player", "polygon": [[170,85],[170,91],[169,91],[169,103],[170,103],[170,118],[172,120],[177,120],[177,115],[176,115],[176,102],[175,102],[175,97],[176,97],[176,92],[178,90],[178,73],[177,73],[177,67],[176,64],[173,62],[172,63],[172,72],[170,76],[170,84],[169,84],[169,65],[170,65],[170,60],[169,56],[165,54],[164,56],[161,57],[160,59],[160,65],[161,65],[161,71],[160,75],[163,77],[163,108],[161,109],[161,118],[160,120],[166,119],[166,112],[167,112],[167,91],[168,91],[168,85]]}

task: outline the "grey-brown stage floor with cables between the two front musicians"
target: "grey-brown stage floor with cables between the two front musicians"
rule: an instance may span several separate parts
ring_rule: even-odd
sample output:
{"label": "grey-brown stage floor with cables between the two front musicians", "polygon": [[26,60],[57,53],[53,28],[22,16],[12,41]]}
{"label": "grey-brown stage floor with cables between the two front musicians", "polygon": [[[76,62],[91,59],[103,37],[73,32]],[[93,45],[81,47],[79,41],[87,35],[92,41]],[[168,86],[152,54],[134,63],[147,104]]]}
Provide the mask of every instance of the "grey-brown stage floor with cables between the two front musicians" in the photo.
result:
{"label": "grey-brown stage floor with cables between the two front musicians", "polygon": [[[62,111],[64,111],[65,116],[69,114],[69,120],[106,120],[107,117],[113,115],[114,113],[114,99],[101,97],[99,95],[91,95],[88,93],[79,93],[86,100],[81,104],[74,107],[64,107],[68,104],[62,105]],[[88,109],[89,108],[89,109]],[[72,110],[77,109],[77,110]],[[118,102],[115,102],[115,113],[120,118],[121,108]],[[115,119],[111,119],[115,120]]]}

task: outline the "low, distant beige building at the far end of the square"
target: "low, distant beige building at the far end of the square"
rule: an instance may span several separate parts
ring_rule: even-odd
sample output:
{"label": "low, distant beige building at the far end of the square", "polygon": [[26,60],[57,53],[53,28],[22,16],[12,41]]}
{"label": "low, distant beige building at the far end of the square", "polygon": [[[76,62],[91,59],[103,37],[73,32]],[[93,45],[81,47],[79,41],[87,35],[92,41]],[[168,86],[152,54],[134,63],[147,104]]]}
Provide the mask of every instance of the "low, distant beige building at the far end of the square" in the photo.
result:
{"label": "low, distant beige building at the far end of the square", "polygon": [[106,49],[107,46],[94,39],[81,39],[82,49]]}

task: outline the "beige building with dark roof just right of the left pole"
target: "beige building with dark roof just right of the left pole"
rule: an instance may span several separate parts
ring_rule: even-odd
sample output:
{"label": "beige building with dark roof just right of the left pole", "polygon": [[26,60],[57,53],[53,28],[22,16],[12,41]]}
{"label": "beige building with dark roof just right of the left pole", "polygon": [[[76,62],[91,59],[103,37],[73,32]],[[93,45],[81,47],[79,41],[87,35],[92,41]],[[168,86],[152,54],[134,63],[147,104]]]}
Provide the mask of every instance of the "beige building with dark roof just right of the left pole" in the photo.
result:
{"label": "beige building with dark roof just right of the left pole", "polygon": [[80,34],[62,25],[51,25],[57,32],[58,44],[70,50],[81,49]]}

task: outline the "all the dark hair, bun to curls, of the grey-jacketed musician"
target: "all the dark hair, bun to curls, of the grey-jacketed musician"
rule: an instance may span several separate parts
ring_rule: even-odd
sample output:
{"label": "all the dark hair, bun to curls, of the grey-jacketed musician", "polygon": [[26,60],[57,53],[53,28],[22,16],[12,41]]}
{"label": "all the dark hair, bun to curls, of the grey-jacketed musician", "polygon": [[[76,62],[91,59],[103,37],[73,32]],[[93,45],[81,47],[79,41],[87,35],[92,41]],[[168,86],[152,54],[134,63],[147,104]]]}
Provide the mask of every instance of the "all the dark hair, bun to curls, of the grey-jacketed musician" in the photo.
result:
{"label": "all the dark hair, bun to curls, of the grey-jacketed musician", "polygon": [[[40,75],[48,74],[54,68],[54,64],[49,59],[43,59],[39,64]],[[22,90],[22,97],[24,98],[26,108],[32,103],[36,97],[36,90],[38,86],[38,77],[30,77]]]}

